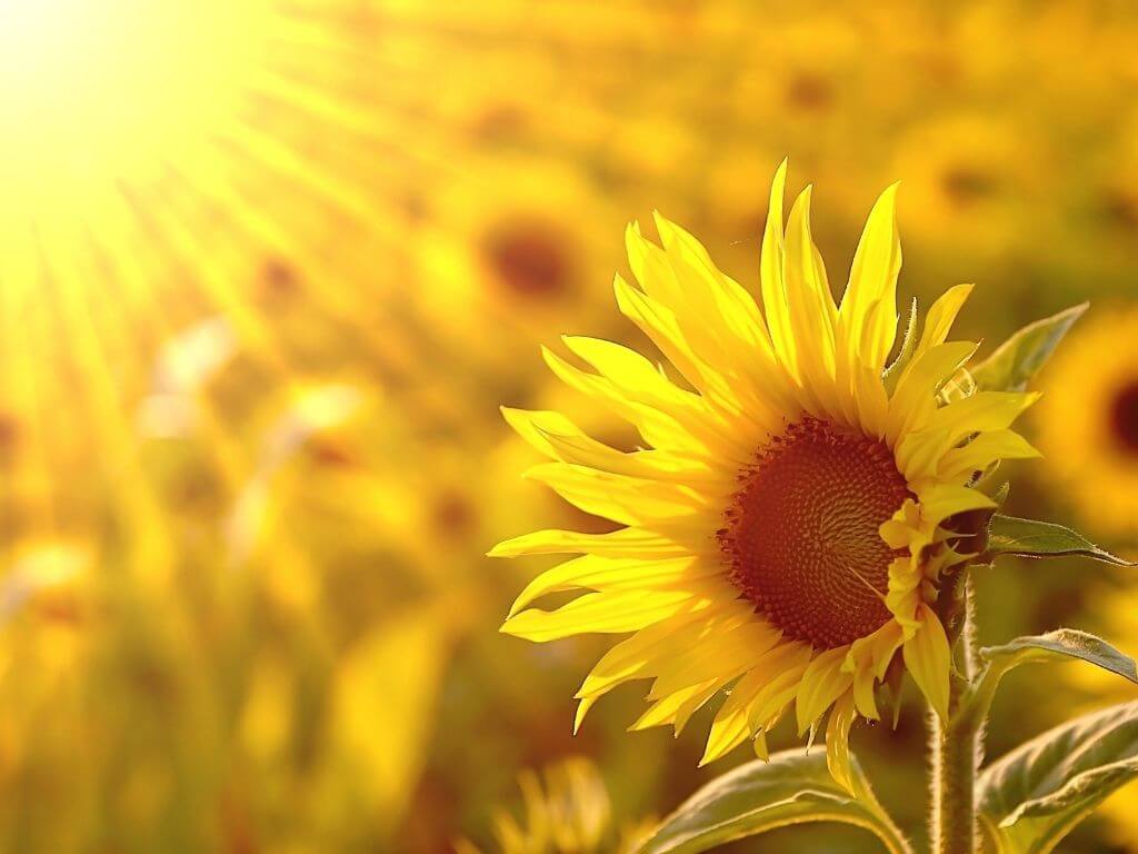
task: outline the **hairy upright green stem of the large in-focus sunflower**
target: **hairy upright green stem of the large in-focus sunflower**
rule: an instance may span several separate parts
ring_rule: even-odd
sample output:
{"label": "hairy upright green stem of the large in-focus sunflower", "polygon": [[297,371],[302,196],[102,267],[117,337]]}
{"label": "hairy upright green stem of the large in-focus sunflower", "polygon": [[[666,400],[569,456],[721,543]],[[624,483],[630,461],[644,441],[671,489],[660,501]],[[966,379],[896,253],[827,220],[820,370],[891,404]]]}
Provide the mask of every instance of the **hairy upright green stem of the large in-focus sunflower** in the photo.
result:
{"label": "hairy upright green stem of the large in-focus sunflower", "polygon": [[[949,613],[962,651],[960,675],[950,680],[949,716],[942,721],[930,709],[932,731],[932,841],[935,854],[974,854],[976,851],[975,781],[980,767],[983,720],[962,709],[960,698],[975,678],[973,643],[974,594],[971,580],[962,580],[962,606]],[[951,606],[950,606],[951,608]],[[955,617],[955,619],[953,619]],[[962,714],[963,712],[963,714]]]}

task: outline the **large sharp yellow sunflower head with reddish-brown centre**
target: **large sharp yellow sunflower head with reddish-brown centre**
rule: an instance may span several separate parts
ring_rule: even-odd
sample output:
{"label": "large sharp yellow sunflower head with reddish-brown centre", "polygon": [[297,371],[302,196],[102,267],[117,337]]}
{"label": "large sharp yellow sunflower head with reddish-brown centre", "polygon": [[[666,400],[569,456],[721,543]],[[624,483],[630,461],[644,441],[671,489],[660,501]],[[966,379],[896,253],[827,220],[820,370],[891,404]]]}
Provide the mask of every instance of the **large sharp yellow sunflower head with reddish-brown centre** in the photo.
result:
{"label": "large sharp yellow sunflower head with reddish-brown centre", "polygon": [[[799,734],[827,709],[831,769],[849,780],[857,717],[879,718],[877,683],[910,673],[941,716],[950,654],[942,574],[966,559],[954,517],[992,508],[972,488],[1001,458],[1037,452],[1009,429],[1034,401],[955,381],[976,350],[946,342],[971,286],[943,294],[923,330],[898,337],[896,186],[869,214],[841,305],[810,236],[811,189],[783,227],[775,174],[760,257],[764,310],[703,247],[662,216],[662,246],[626,232],[640,288],[619,274],[621,312],[666,355],[673,378],[607,340],[564,343],[595,372],[545,352],[553,371],[638,429],[621,452],[552,411],[505,409],[552,462],[529,474],[602,534],[539,531],[492,555],[578,557],[538,576],[502,631],[534,641],[630,633],[585,679],[576,725],[615,687],[653,679],[634,729],[673,724],[729,689],[703,763],[765,733],[791,707]],[[529,607],[576,591],[553,610]]]}

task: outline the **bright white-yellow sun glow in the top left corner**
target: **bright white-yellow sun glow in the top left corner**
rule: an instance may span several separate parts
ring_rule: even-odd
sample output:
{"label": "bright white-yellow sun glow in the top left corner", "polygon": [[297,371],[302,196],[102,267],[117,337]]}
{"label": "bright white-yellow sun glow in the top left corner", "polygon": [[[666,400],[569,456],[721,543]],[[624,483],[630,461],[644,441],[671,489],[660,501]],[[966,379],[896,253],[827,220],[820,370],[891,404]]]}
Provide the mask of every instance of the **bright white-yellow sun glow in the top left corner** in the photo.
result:
{"label": "bright white-yellow sun glow in the top left corner", "polygon": [[43,212],[179,156],[234,109],[257,3],[0,0],[0,181]]}

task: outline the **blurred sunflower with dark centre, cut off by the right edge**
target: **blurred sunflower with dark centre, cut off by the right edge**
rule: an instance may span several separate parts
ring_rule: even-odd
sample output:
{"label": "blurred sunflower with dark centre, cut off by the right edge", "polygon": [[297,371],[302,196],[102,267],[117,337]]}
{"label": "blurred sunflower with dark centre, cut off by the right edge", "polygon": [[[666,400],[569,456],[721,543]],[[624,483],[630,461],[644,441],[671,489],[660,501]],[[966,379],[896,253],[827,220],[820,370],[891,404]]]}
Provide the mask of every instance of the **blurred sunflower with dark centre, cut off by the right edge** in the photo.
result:
{"label": "blurred sunflower with dark centre, cut off by the right edge", "polygon": [[1082,326],[1048,368],[1037,412],[1047,474],[1088,526],[1138,537],[1138,306]]}

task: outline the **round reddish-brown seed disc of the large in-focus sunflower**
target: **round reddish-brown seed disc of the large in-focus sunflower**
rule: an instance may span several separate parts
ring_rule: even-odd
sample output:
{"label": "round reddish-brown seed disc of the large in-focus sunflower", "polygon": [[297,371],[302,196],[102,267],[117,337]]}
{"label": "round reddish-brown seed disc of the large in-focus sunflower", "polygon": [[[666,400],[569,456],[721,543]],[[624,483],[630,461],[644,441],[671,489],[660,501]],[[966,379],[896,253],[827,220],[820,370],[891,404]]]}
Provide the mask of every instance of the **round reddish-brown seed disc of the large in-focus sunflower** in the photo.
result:
{"label": "round reddish-brown seed disc of the large in-focus sunflower", "polygon": [[785,637],[833,649],[890,619],[896,556],[877,528],[910,493],[876,440],[814,418],[743,475],[719,543],[729,578]]}

